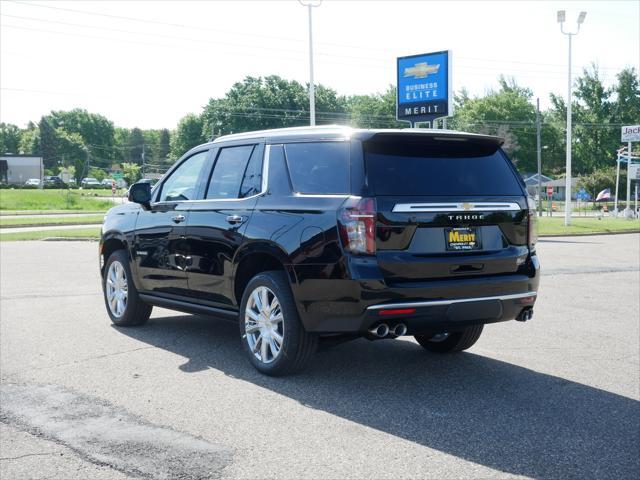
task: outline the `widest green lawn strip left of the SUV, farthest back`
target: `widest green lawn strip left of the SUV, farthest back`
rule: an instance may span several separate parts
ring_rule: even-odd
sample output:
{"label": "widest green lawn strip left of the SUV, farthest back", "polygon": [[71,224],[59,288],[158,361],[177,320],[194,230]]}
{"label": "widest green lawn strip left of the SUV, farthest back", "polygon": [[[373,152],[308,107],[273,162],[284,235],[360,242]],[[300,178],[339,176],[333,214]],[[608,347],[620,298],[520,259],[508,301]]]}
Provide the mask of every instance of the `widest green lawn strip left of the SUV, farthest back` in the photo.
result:
{"label": "widest green lawn strip left of the SUV, farthest back", "polygon": [[[81,195],[78,190],[0,190],[0,212],[5,210],[106,211],[109,200]],[[84,193],[84,192],[82,192]]]}

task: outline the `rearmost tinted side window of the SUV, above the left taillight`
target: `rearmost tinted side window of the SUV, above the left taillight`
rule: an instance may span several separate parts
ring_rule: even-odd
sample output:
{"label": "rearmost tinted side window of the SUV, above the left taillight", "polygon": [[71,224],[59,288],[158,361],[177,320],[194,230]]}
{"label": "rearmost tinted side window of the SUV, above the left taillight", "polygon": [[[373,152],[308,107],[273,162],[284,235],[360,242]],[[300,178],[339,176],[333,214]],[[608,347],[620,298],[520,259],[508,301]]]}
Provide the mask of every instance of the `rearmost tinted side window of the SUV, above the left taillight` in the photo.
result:
{"label": "rearmost tinted side window of the SUV, above the left taillight", "polygon": [[349,193],[349,143],[285,145],[293,189],[300,193]]}

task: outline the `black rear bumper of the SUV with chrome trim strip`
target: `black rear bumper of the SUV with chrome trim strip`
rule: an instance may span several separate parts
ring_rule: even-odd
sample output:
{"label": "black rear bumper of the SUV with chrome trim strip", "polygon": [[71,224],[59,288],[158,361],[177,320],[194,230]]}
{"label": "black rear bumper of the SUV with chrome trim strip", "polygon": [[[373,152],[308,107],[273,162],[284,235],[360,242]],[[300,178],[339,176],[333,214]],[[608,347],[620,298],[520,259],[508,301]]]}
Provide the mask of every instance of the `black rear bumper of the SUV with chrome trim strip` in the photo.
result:
{"label": "black rear bumper of the SUV with chrome trim strip", "polygon": [[[369,267],[373,265],[361,271],[374,276],[377,269]],[[365,334],[380,323],[404,323],[414,335],[513,320],[533,307],[540,281],[536,255],[518,274],[399,285],[381,278],[318,278],[311,266],[294,271],[292,288],[301,320],[308,331],[318,333]],[[327,273],[326,266],[323,271]],[[402,309],[412,311],[393,312]]]}

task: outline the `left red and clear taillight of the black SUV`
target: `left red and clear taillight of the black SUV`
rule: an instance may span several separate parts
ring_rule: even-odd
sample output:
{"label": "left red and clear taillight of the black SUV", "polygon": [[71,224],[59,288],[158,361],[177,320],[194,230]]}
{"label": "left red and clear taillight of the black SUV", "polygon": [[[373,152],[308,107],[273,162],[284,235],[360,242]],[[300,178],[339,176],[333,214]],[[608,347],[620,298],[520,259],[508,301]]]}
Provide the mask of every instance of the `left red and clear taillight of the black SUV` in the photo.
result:
{"label": "left red and clear taillight of the black SUV", "polygon": [[349,197],[338,210],[338,231],[344,249],[376,253],[376,203],[373,198]]}

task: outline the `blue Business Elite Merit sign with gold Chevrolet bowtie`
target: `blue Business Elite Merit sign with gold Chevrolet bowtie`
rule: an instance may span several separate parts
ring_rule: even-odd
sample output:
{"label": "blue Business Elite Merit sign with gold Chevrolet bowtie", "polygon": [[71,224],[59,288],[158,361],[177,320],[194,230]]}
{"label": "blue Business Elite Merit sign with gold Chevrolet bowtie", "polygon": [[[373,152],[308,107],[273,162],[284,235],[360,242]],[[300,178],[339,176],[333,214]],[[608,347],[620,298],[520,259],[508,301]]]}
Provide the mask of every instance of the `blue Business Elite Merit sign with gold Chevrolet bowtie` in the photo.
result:
{"label": "blue Business Elite Merit sign with gold Chevrolet bowtie", "polygon": [[398,120],[431,121],[451,115],[451,52],[398,58]]}

